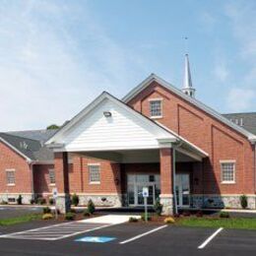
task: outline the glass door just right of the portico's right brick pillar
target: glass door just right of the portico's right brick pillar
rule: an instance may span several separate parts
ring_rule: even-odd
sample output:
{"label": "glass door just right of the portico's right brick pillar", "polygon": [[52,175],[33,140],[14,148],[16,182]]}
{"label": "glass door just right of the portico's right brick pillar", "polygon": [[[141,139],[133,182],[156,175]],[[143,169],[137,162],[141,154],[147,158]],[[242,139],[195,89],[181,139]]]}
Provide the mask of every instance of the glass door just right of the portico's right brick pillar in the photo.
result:
{"label": "glass door just right of the portico's right brick pillar", "polygon": [[189,207],[190,186],[189,173],[179,173],[175,176],[175,192],[178,207]]}

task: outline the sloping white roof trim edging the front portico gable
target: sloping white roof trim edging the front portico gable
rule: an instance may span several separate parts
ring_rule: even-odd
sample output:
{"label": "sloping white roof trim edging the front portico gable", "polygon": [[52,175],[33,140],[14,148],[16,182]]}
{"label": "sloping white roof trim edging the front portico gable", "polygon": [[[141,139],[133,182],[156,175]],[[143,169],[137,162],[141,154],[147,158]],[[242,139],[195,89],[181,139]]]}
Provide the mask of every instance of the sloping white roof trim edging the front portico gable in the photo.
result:
{"label": "sloping white roof trim edging the front portico gable", "polygon": [[56,134],[53,135],[47,142],[45,142],[45,145],[48,147],[62,147],[62,136],[65,136],[67,134],[67,131],[69,131],[71,128],[75,127],[77,124],[80,123],[82,118],[87,116],[89,113],[91,113],[96,107],[99,105],[101,101],[104,99],[109,99],[110,101],[116,103],[118,106],[122,107],[123,109],[126,109],[129,111],[133,116],[136,116],[140,118],[142,122],[145,124],[148,124],[149,126],[153,127],[155,130],[157,129],[161,137],[158,138],[158,140],[161,143],[169,143],[169,142],[182,142],[184,145],[187,145],[190,149],[192,149],[194,152],[196,152],[200,157],[204,158],[207,157],[208,154],[196,147],[195,145],[191,144],[190,142],[184,140],[174,132],[170,131],[166,127],[162,126],[161,124],[155,122],[154,120],[148,118],[147,116],[143,115],[142,113],[134,110],[129,105],[125,104],[123,101],[119,100],[118,98],[111,96],[107,92],[103,92],[101,95],[97,96],[96,99],[91,102],[87,107],[85,107],[81,112],[79,112],[73,119],[70,120],[65,126],[61,127]]}

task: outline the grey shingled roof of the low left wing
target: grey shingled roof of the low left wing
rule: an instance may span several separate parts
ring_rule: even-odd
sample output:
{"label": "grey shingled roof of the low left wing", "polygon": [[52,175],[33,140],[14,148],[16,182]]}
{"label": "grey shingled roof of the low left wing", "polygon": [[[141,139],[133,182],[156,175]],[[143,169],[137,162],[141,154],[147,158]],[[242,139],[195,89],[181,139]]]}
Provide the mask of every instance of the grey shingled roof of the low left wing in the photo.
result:
{"label": "grey shingled roof of the low left wing", "polygon": [[44,142],[55,132],[56,130],[6,132],[0,133],[0,141],[28,161],[48,161],[53,160],[53,152]]}

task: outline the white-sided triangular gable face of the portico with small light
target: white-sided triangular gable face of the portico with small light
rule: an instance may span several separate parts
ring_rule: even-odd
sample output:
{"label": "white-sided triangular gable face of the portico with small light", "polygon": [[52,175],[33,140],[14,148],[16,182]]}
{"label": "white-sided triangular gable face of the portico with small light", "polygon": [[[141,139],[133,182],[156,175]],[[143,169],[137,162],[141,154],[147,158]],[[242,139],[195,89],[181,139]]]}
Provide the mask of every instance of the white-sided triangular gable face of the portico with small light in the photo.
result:
{"label": "white-sided triangular gable face of the portico with small light", "polygon": [[[111,112],[105,117],[104,111]],[[158,139],[175,140],[169,132],[110,97],[104,97],[54,143],[67,151],[157,149]]]}

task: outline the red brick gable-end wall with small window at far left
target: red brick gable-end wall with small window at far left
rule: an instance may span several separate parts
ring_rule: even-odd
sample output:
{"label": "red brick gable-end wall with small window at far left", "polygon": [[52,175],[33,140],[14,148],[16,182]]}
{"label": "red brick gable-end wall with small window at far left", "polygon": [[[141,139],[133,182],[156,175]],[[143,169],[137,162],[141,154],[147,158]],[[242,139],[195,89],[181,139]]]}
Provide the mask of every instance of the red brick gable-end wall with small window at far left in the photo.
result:
{"label": "red brick gable-end wall with small window at far left", "polygon": [[[8,186],[6,169],[15,169],[15,186]],[[0,142],[0,193],[32,193],[30,166],[23,157]]]}

